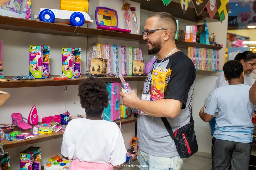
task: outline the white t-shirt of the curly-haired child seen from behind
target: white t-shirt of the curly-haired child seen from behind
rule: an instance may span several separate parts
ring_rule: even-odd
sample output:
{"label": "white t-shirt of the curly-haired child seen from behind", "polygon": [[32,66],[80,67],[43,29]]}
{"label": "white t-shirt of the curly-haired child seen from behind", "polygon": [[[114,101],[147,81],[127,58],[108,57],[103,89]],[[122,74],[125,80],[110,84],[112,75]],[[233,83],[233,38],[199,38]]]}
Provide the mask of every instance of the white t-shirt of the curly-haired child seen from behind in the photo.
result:
{"label": "white t-shirt of the curly-haired child seen from behind", "polygon": [[69,160],[120,165],[126,161],[118,125],[106,120],[71,120],[63,134],[61,154]]}

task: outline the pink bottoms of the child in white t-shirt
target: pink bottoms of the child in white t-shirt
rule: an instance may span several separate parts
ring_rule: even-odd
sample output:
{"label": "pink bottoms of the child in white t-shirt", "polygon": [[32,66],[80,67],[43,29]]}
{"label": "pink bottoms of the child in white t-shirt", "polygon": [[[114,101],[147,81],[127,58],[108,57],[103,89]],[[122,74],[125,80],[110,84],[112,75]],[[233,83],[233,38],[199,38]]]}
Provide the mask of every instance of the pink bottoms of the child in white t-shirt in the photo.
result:
{"label": "pink bottoms of the child in white t-shirt", "polygon": [[80,162],[77,160],[72,160],[69,169],[70,170],[85,170],[85,169],[114,170],[114,167],[111,164]]}

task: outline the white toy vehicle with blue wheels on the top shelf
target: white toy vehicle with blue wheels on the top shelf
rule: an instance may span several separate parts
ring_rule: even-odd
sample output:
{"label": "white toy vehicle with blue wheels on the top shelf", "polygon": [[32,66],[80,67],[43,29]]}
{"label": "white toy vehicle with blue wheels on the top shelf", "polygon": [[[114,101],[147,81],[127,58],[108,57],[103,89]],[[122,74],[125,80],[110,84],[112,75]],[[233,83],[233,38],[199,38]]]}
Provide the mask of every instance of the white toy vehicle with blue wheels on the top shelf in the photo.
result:
{"label": "white toy vehicle with blue wheels on the top shelf", "polygon": [[40,8],[39,15],[34,15],[43,22],[67,22],[72,26],[82,26],[84,23],[93,23],[91,17],[82,11],[68,11]]}

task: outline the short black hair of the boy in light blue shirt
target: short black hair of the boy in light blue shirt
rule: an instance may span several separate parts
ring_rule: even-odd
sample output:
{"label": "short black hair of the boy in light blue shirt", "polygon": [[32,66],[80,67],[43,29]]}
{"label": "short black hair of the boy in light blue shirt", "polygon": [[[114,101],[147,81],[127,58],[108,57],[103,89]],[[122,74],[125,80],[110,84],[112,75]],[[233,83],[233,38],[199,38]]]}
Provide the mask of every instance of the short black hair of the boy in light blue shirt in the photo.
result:
{"label": "short black hair of the boy in light blue shirt", "polygon": [[228,80],[240,78],[243,71],[242,63],[236,60],[230,60],[223,66],[224,75]]}

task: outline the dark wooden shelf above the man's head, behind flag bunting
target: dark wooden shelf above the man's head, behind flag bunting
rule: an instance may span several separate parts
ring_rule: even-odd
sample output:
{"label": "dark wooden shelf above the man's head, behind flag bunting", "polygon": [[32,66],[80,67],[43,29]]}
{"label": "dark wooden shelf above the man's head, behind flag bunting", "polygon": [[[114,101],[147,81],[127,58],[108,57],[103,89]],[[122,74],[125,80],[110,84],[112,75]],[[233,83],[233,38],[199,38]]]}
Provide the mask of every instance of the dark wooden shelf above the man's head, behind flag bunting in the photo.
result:
{"label": "dark wooden shelf above the man's head, behind flag bunting", "polygon": [[[164,6],[162,0],[154,0],[154,1],[146,1],[146,0],[131,0],[137,3],[140,3],[140,8],[153,12],[168,12],[172,14],[175,18],[181,18],[193,22],[202,21],[205,17],[209,18],[209,14],[207,11],[202,11],[200,16],[197,16],[196,11],[192,2],[190,2],[188,9],[183,15],[183,10],[181,8],[180,3],[171,1],[167,6]],[[215,15],[212,19],[212,22],[220,21],[220,17]]]}

